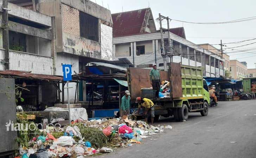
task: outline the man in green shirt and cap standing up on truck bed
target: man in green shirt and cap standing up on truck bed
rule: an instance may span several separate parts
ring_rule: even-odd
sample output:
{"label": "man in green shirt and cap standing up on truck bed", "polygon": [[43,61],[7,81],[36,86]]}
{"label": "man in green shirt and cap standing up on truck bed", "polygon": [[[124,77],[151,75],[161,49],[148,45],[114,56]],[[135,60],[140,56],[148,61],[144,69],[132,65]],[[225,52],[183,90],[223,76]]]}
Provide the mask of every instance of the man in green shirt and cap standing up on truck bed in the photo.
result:
{"label": "man in green shirt and cap standing up on truck bed", "polygon": [[159,90],[161,85],[161,76],[160,72],[156,70],[156,64],[153,64],[153,69],[151,69],[149,73],[150,82],[153,87],[153,90],[155,90],[155,97],[159,98]]}

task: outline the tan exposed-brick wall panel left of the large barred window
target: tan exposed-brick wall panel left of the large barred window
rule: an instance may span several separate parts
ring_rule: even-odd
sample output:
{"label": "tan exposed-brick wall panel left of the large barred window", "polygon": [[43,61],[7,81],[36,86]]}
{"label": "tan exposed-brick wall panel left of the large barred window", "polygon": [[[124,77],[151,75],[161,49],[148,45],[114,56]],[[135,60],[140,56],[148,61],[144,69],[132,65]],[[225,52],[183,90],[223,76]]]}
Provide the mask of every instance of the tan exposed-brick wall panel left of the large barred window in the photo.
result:
{"label": "tan exposed-brick wall panel left of the large barred window", "polygon": [[78,9],[62,4],[62,24],[63,32],[80,36]]}

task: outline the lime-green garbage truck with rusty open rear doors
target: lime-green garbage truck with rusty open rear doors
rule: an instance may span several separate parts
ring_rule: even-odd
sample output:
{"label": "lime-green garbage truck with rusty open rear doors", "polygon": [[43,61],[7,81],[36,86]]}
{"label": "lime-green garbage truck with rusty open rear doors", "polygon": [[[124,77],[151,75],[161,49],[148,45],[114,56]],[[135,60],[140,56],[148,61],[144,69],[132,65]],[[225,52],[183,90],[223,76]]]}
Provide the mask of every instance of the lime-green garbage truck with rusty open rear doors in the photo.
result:
{"label": "lime-green garbage truck with rusty open rear doors", "polygon": [[[145,68],[127,68],[128,90],[133,103],[136,97],[144,97],[141,88],[152,87],[149,72]],[[159,116],[174,116],[176,121],[187,120],[188,112],[200,112],[202,116],[207,116],[210,95],[203,79],[203,67],[172,62],[168,71],[160,71],[160,75],[162,81],[169,81],[170,97],[148,98],[155,104],[155,121]]]}

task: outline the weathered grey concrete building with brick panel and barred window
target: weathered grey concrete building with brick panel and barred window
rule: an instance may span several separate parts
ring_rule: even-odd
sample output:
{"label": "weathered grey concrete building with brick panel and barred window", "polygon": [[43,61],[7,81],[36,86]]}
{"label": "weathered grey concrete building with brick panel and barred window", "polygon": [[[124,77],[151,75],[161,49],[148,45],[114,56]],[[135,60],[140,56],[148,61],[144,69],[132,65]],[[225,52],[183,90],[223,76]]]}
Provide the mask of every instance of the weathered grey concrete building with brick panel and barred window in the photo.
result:
{"label": "weathered grey concrete building with brick panel and barred window", "polygon": [[[75,74],[90,61],[113,60],[111,13],[92,1],[8,0],[8,9],[10,70],[63,75],[62,65],[71,64]],[[3,36],[0,70],[6,65],[5,43]],[[76,83],[70,86],[72,102]]]}

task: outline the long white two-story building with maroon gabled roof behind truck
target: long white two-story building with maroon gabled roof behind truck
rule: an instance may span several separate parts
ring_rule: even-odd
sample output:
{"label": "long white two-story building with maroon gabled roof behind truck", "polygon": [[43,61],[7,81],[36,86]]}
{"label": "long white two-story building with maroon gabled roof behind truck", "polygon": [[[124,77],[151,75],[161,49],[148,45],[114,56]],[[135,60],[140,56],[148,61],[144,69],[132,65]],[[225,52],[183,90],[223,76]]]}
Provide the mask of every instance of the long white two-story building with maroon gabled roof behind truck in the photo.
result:
{"label": "long white two-story building with maroon gabled roof behind truck", "polygon": [[[160,70],[164,69],[161,54],[161,34],[156,30],[155,20],[150,8],[112,14],[113,19],[113,56],[126,57],[135,67],[150,68],[153,63]],[[168,44],[167,29],[164,29],[164,43]],[[220,65],[224,61],[204,48],[186,40],[184,28],[174,28],[171,33],[171,47],[167,52],[175,54],[172,62],[184,65],[203,66],[207,77],[223,76],[224,70]],[[167,62],[170,62],[167,57]]]}

